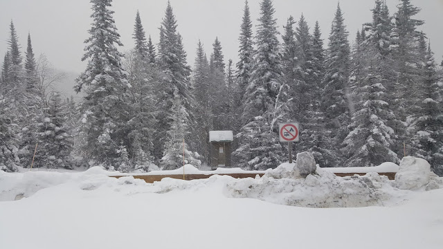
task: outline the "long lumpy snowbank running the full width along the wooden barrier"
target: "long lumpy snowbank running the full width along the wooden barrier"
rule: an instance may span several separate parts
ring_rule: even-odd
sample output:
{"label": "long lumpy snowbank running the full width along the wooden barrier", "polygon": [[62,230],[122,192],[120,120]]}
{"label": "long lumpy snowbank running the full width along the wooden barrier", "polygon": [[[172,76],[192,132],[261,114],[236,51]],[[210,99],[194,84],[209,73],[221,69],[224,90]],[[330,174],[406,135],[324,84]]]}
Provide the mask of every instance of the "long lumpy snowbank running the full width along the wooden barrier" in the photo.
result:
{"label": "long lumpy snowbank running the full width along the wooden barrier", "polygon": [[[386,176],[371,172],[365,176],[338,177],[329,169],[313,167],[309,154],[299,154],[297,163],[284,163],[264,172],[262,178],[235,179],[230,176],[211,176],[207,179],[181,181],[164,178],[153,184],[132,176],[110,178],[118,172],[107,172],[93,167],[80,173],[57,172],[0,172],[0,201],[19,200],[33,196],[39,190],[71,185],[78,190],[93,191],[100,188],[123,187],[131,193],[164,194],[172,191],[199,191],[217,186],[219,194],[229,198],[252,198],[281,205],[308,208],[355,208],[365,206],[395,205],[404,200],[410,190],[424,191],[442,187],[442,178],[431,174],[427,163],[418,158],[404,158],[400,166],[385,164],[378,169],[398,169],[398,178],[390,181]],[[424,162],[423,162],[424,161]],[[425,167],[423,166],[425,165]],[[201,174],[185,166],[186,174]],[[246,172],[241,169],[218,169],[210,173]],[[155,174],[154,172],[150,174]],[[183,174],[183,168],[163,174]],[[419,177],[422,176],[422,177]]]}

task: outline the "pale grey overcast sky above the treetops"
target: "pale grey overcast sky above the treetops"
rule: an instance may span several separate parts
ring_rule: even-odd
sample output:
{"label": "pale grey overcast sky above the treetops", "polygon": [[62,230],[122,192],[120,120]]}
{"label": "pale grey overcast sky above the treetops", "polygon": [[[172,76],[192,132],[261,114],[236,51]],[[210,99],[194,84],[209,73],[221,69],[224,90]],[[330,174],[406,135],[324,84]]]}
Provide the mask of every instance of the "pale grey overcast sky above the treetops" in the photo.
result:
{"label": "pale grey overcast sky above the treetops", "polygon": [[[183,36],[183,44],[188,53],[188,64],[194,64],[195,48],[201,39],[208,55],[216,36],[221,41],[226,62],[237,60],[239,26],[242,21],[244,1],[242,0],[170,0]],[[440,64],[443,55],[443,0],[412,0],[422,8],[417,17],[426,24],[422,30],[431,39],[431,47]],[[327,35],[334,17],[337,1],[334,0],[274,0],[275,17],[280,31],[287,17],[296,20],[301,13],[309,26],[316,20],[327,44]],[[398,0],[387,0],[391,14],[397,11]],[[350,42],[361,24],[371,21],[370,9],[373,0],[341,0],[345,24],[350,31]],[[159,26],[164,16],[167,0],[114,0],[113,10],[116,26],[125,47],[132,48],[132,32],[136,10],[141,13],[147,35],[152,35],[154,43],[159,40]],[[260,0],[249,0],[253,25],[257,24]],[[89,0],[0,0],[0,58],[6,52],[9,24],[12,19],[19,35],[21,50],[26,49],[26,37],[31,33],[36,55],[46,53],[55,67],[64,71],[80,73],[86,64],[80,61],[84,51],[91,18]],[[311,28],[312,30],[312,28]]]}

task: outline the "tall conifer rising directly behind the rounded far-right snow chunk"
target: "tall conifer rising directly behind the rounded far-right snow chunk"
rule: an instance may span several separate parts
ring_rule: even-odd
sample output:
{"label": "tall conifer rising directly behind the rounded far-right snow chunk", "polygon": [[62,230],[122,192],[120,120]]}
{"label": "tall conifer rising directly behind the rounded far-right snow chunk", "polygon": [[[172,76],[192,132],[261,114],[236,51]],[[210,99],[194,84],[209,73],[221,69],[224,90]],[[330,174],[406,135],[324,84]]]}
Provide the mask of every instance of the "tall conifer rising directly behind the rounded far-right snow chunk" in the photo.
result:
{"label": "tall conifer rising directly behind the rounded far-right snow chunk", "polygon": [[[400,0],[395,13],[395,26],[392,29],[393,57],[395,59],[395,115],[401,120],[403,127],[396,127],[399,136],[396,150],[403,154],[403,145],[406,144],[406,154],[413,154],[415,147],[410,142],[408,130],[415,130],[409,127],[415,122],[417,113],[419,112],[419,102],[421,97],[421,87],[419,86],[422,74],[422,66],[424,53],[419,51],[419,38],[423,35],[417,30],[424,21],[413,19],[420,11],[419,8],[413,6],[410,0]],[[426,50],[424,50],[426,51]]]}

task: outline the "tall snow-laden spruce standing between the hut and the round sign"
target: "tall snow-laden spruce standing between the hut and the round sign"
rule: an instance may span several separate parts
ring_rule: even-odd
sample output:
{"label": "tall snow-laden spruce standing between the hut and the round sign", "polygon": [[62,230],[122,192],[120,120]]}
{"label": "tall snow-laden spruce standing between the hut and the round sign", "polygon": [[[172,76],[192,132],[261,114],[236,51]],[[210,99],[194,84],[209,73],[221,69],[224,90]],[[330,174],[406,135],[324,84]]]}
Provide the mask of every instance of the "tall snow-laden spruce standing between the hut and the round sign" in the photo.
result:
{"label": "tall snow-laden spruce standing between the hut and the round sign", "polygon": [[[237,138],[239,148],[233,156],[240,167],[267,169],[282,162],[282,147],[278,141],[275,123],[281,118],[276,102],[284,102],[287,92],[282,90],[278,30],[271,0],[260,3],[260,18],[255,37],[257,50],[253,57],[251,79],[246,88],[246,102],[242,127]],[[280,94],[281,93],[281,94]],[[286,93],[286,94],[285,94]],[[278,105],[280,106],[280,104]],[[275,118],[279,117],[279,118]],[[251,133],[252,130],[255,130]]]}

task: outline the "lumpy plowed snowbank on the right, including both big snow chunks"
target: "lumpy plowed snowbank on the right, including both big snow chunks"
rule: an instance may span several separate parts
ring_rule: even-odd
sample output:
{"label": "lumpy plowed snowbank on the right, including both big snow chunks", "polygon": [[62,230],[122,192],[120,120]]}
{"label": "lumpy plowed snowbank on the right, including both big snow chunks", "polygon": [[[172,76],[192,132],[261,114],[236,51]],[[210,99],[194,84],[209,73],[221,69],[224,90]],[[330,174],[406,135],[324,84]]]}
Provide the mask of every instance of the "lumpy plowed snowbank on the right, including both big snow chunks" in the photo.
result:
{"label": "lumpy plowed snowbank on the right, including both big snow chunks", "polygon": [[[297,156],[297,162],[311,164],[306,155]],[[302,156],[306,160],[299,160]],[[320,167],[317,167],[314,174],[304,177],[300,174],[300,168],[303,169],[304,166],[284,163],[276,169],[266,171],[262,178],[228,183],[228,190],[233,197],[254,198],[282,205],[356,208],[396,204],[404,199],[407,194],[405,190],[417,190],[425,186],[426,190],[435,190],[443,185],[443,178],[431,173],[426,160],[413,157],[404,158],[399,169],[392,163],[372,167],[379,172],[395,172],[397,169],[399,173],[395,181],[390,181],[387,176],[381,176],[377,172],[369,172],[365,176],[338,177],[332,173],[333,170]],[[346,172],[361,173],[364,170],[354,168]]]}

